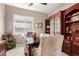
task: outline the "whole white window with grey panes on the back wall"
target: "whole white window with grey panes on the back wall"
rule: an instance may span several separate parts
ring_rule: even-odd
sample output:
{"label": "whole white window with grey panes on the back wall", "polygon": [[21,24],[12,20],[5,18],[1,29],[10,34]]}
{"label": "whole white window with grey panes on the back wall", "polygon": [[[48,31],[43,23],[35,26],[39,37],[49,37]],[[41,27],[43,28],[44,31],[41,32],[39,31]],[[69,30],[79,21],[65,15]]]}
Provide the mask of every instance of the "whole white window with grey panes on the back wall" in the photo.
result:
{"label": "whole white window with grey panes on the back wall", "polygon": [[33,32],[33,17],[14,15],[13,34]]}

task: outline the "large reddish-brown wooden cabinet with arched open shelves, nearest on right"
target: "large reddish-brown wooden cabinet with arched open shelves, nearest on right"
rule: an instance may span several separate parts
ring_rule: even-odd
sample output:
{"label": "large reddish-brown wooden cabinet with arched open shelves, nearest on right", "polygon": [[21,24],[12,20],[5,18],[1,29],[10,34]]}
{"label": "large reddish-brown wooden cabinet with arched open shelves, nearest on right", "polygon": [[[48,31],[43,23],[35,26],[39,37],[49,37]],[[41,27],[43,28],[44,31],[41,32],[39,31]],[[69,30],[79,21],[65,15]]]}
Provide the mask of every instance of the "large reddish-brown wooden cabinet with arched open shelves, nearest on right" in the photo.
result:
{"label": "large reddish-brown wooden cabinet with arched open shelves, nearest on right", "polygon": [[79,3],[63,12],[63,51],[79,56]]}

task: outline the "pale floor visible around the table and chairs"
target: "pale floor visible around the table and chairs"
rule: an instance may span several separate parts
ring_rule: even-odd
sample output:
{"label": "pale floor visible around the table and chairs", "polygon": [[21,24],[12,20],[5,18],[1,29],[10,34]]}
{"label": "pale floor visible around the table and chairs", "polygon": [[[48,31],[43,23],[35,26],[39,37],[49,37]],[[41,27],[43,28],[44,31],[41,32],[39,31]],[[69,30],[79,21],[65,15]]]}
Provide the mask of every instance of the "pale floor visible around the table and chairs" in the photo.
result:
{"label": "pale floor visible around the table and chairs", "polygon": [[[16,48],[6,52],[6,56],[24,56],[24,44],[16,45]],[[68,56],[68,55],[62,53],[61,56]]]}

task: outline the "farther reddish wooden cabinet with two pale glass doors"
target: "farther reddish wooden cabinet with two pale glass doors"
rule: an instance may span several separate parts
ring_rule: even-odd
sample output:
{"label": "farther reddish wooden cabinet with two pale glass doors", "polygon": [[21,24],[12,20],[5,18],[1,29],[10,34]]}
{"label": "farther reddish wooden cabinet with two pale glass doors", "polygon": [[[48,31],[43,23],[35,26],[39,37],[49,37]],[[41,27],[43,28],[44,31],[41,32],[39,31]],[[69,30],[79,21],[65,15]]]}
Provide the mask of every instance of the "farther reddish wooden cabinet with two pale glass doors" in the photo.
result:
{"label": "farther reddish wooden cabinet with two pale glass doors", "polygon": [[62,11],[51,14],[45,20],[45,33],[62,34]]}

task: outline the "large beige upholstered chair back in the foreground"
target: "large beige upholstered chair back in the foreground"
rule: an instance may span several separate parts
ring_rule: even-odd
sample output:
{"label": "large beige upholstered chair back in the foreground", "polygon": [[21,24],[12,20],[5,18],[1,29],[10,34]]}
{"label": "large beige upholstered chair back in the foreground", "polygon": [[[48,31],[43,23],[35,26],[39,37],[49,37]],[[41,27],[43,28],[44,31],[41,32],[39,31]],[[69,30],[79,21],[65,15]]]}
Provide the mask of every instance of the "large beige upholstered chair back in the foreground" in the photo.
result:
{"label": "large beige upholstered chair back in the foreground", "polygon": [[58,56],[61,55],[63,35],[49,35],[42,38],[42,56]]}

